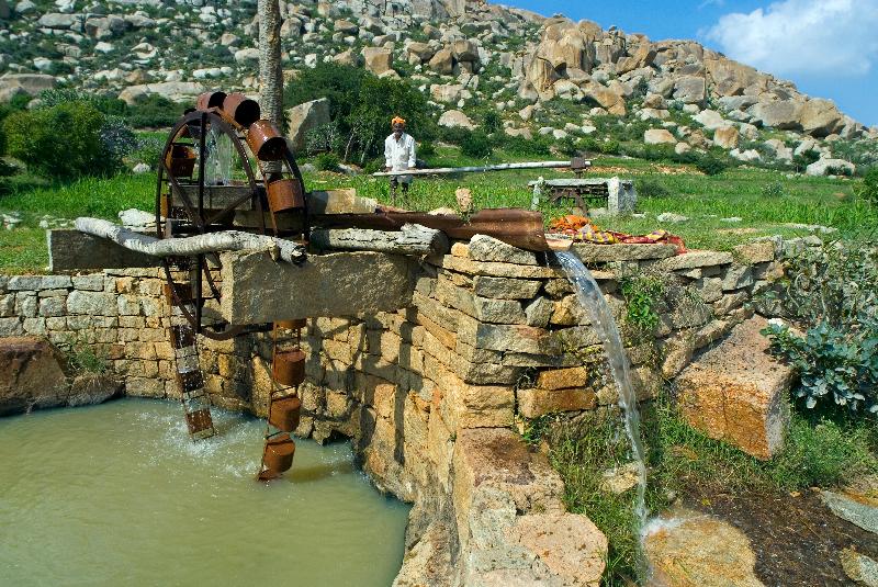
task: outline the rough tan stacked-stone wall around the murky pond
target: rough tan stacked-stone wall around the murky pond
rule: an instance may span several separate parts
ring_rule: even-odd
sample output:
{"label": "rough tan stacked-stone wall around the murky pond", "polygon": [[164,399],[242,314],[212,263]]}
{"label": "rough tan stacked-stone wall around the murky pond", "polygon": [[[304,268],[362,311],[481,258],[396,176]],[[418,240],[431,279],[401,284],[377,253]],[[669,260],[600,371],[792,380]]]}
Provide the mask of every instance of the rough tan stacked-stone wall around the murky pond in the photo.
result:
{"label": "rough tan stacked-stone wall around the murky pond", "polygon": [[[682,256],[662,245],[576,247],[617,319],[624,275],[667,284],[658,326],[626,341],[641,398],[753,314],[753,294],[778,274],[776,245]],[[128,395],[173,398],[161,283],[154,269],[0,278],[0,336],[90,345]],[[560,477],[514,432],[527,418],[616,403],[600,341],[560,268],[476,236],[423,260],[409,307],[308,321],[296,432],[351,438],[375,484],[416,504],[398,585],[597,585],[606,539],[564,511]],[[263,416],[267,336],[200,345],[215,403]],[[574,535],[582,546],[564,551]]]}

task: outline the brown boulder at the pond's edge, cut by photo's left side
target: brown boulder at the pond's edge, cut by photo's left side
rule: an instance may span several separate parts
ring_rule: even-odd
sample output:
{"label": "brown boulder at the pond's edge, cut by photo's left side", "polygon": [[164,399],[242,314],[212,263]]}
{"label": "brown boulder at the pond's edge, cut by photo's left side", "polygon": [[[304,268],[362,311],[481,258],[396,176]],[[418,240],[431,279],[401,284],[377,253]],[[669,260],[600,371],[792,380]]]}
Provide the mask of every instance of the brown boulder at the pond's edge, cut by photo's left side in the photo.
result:
{"label": "brown boulder at the pond's edge, cut by photo's left side", "polygon": [[0,338],[0,416],[65,404],[69,385],[61,364],[44,339]]}

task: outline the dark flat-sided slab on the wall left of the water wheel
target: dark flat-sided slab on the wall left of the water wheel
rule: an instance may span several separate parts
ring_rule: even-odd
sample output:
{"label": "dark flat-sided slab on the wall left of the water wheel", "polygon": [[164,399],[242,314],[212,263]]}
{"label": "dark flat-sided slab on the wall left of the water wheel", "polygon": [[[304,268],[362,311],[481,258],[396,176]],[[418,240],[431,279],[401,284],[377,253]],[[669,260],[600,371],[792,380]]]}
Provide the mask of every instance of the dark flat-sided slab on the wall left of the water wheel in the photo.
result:
{"label": "dark flat-sided slab on the wall left of the water wheel", "polygon": [[160,260],[79,230],[46,230],[50,271],[157,267]]}

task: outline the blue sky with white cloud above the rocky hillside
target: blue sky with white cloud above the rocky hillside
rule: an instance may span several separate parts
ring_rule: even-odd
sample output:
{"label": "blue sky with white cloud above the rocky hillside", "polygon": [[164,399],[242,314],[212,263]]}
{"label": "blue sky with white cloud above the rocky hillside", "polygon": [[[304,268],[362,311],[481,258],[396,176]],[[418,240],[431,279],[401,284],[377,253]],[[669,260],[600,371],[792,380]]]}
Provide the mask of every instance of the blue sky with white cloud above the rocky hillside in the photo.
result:
{"label": "blue sky with white cloud above the rocky hillside", "polygon": [[653,41],[691,38],[878,125],[878,0],[500,0]]}

